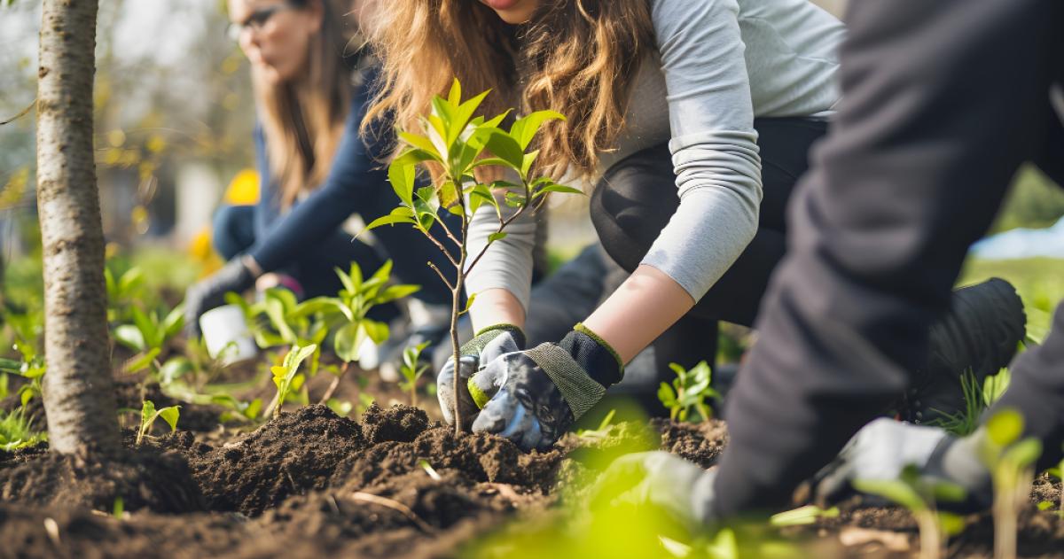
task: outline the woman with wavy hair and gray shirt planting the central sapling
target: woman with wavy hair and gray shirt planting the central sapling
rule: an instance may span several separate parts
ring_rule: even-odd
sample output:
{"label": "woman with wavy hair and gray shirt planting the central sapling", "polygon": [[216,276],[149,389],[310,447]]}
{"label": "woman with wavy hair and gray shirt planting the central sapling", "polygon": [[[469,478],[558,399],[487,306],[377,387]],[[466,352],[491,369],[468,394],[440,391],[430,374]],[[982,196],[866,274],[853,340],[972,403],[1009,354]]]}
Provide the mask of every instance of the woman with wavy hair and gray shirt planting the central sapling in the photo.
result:
{"label": "woman with wavy hair and gray shirt planting the central sapling", "polygon": [[[382,88],[368,117],[416,129],[453,78],[493,89],[484,114],[563,113],[538,139],[538,170],[594,184],[599,239],[631,271],[560,341],[526,349],[535,222],[515,222],[468,280],[480,329],[459,371],[440,371],[448,420],[455,399],[473,430],[544,447],[681,317],[752,324],[785,250],[787,200],[838,103],[838,20],[807,0],[394,0],[377,17]],[[493,223],[473,218],[472,250]],[[997,372],[1023,336],[1010,287],[962,295],[984,311],[944,319],[936,355],[948,357],[918,372],[907,417],[930,414],[929,402],[957,409],[959,375]],[[983,327],[997,323],[1008,327]],[[968,344],[971,333],[985,343]]]}

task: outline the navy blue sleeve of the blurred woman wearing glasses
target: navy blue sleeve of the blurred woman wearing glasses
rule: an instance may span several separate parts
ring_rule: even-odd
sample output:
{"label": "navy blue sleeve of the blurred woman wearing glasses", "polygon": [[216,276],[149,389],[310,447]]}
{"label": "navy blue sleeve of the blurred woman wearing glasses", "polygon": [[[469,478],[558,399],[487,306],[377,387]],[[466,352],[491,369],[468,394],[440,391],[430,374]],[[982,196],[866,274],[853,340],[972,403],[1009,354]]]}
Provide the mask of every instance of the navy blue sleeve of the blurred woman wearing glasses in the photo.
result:
{"label": "navy blue sleeve of the blurred woman wearing glasses", "polygon": [[[380,196],[382,189],[390,192],[386,188],[387,173],[375,158],[375,154],[383,153],[380,143],[373,139],[379,135],[363,138],[359,132],[369,100],[368,90],[369,87],[360,88],[352,100],[344,137],[336,148],[325,184],[271,224],[249,251],[263,271],[284,266],[304,248],[335,232],[368,200]],[[263,203],[271,202],[264,197],[260,201],[260,204]]]}

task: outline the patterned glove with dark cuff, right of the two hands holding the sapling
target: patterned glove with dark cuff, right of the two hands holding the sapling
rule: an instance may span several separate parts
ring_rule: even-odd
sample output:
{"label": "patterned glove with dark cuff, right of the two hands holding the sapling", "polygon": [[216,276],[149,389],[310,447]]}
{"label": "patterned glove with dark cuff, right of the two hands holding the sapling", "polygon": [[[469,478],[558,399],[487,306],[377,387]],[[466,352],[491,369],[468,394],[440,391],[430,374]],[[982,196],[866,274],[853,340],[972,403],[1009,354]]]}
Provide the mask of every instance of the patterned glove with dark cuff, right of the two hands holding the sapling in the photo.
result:
{"label": "patterned glove with dark cuff, right of the two hands holding the sapling", "polygon": [[501,355],[469,379],[469,393],[483,408],[472,430],[545,450],[622,376],[617,352],[577,324],[561,342]]}

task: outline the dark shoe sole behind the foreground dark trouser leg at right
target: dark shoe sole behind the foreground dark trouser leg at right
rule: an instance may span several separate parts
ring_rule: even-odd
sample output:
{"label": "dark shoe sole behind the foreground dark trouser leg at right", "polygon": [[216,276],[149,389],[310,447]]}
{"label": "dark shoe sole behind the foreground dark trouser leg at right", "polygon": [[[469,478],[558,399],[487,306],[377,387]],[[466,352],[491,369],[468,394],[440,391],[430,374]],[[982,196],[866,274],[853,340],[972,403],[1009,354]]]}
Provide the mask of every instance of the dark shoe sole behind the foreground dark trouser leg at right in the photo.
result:
{"label": "dark shoe sole behind the foreground dark trouser leg at right", "polygon": [[966,409],[962,377],[976,387],[1007,367],[1027,332],[1024,302],[1004,280],[953,292],[949,311],[931,327],[927,366],[917,371],[899,410],[911,423],[938,423]]}

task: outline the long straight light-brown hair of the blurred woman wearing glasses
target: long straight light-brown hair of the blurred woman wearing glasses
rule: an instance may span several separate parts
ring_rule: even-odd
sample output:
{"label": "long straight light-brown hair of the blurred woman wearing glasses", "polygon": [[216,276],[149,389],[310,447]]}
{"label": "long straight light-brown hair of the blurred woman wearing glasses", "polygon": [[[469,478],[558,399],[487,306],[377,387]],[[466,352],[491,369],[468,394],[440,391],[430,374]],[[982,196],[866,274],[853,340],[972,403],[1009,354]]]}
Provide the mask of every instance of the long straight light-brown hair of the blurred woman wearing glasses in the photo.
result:
{"label": "long straight light-brown hair of the blurred woman wearing glasses", "polygon": [[269,84],[252,70],[259,118],[266,136],[270,172],[282,207],[325,181],[344,135],[351,100],[354,31],[345,24],[350,0],[288,0],[297,9],[320,3],[321,29],[311,38],[306,72]]}

